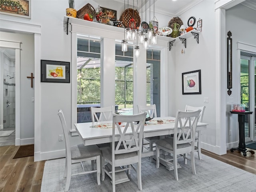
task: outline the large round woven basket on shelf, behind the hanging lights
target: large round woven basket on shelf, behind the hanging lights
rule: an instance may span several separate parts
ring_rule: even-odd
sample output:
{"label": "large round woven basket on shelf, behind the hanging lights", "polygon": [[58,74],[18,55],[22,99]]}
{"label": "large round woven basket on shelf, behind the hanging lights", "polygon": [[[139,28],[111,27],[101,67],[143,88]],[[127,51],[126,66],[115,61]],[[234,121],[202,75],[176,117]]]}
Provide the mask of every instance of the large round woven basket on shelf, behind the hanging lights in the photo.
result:
{"label": "large round woven basket on shelf, behind the hanging lights", "polygon": [[129,27],[129,22],[130,19],[134,18],[135,22],[136,22],[136,27],[140,27],[140,14],[137,10],[128,8],[124,11],[124,13],[121,15],[119,21],[122,22],[122,24],[124,25],[125,28]]}

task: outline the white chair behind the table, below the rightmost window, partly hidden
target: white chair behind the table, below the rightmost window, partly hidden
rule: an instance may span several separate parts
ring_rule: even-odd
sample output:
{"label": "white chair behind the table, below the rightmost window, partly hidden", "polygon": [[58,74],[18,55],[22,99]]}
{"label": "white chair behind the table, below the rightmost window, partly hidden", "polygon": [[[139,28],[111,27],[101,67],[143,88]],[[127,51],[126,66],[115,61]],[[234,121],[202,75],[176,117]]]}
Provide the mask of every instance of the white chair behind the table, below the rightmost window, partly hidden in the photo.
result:
{"label": "white chair behind the table, below the rightmost window, partly hidden", "polygon": [[[138,110],[139,110],[140,113],[147,112],[147,114],[150,118],[157,117],[157,115],[156,115],[156,105],[155,104],[145,105],[145,106],[138,105]],[[159,136],[154,136],[154,137],[147,137],[147,138],[144,138],[144,139],[146,141],[148,141],[149,143],[143,142],[142,146],[149,145],[149,148],[147,148],[147,149],[150,150],[150,151],[153,151],[153,149],[154,149],[153,144],[154,144],[154,142],[159,140],[160,137]],[[150,162],[153,162],[153,156],[150,156]]]}

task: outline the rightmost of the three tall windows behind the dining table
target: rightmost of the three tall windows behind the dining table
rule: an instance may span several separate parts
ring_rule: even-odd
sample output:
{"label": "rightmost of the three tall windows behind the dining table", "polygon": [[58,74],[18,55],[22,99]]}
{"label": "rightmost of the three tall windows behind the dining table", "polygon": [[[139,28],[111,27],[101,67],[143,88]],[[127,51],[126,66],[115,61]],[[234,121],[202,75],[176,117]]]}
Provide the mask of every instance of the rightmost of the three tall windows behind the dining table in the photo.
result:
{"label": "rightmost of the three tall windows behind the dining table", "polygon": [[160,50],[147,50],[146,92],[147,105],[156,104],[160,116]]}

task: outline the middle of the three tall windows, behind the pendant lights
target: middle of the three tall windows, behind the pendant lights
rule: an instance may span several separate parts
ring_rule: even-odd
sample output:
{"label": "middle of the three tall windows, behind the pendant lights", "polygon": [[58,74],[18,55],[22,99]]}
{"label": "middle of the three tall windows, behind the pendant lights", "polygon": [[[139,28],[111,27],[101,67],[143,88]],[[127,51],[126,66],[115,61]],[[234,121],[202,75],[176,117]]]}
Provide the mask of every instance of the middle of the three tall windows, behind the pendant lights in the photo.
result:
{"label": "middle of the three tall windows, behind the pendant lights", "polygon": [[133,46],[127,52],[116,44],[116,104],[122,114],[133,113]]}

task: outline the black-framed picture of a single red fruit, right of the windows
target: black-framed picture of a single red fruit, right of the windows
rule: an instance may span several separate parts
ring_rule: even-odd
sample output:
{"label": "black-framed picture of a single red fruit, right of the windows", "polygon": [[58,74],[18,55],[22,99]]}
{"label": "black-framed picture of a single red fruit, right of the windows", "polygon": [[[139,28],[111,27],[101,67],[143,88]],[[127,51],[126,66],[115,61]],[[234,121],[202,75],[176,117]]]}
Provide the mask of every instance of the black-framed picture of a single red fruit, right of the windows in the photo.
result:
{"label": "black-framed picture of a single red fruit, right of the windows", "polygon": [[201,70],[182,73],[182,94],[201,94]]}

